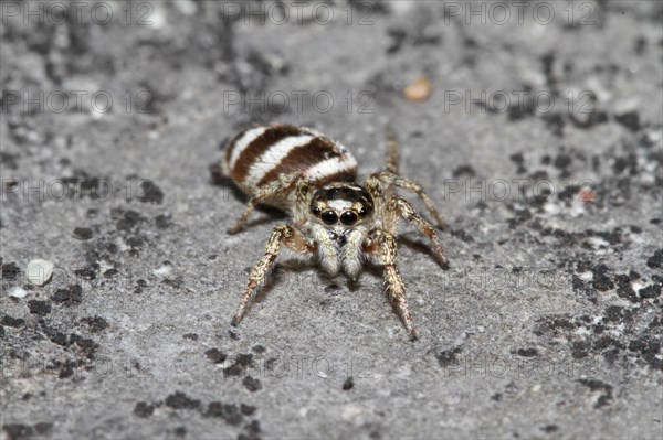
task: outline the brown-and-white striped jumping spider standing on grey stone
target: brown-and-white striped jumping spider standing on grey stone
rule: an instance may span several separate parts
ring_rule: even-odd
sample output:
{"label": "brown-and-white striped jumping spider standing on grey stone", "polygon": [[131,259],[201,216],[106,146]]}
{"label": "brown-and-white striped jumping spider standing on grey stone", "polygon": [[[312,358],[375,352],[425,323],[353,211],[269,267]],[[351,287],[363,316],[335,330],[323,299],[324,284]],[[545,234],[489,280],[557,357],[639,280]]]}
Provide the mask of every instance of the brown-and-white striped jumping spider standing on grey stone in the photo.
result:
{"label": "brown-and-white striped jumping spider standing on grey stone", "polygon": [[308,128],[254,126],[240,132],[224,150],[223,173],[249,195],[246,210],[229,230],[238,233],[259,204],[288,212],[292,223],[276,226],[264,256],[249,276],[232,320],[238,325],[256,288],[269,273],[282,245],[317,257],[330,276],[341,270],[355,281],[365,260],[382,267],[390,299],[412,340],[417,339],[406,288],[397,267],[397,227],[409,221],[425,235],[442,267],[446,257],[433,226],[394,189],[417,193],[438,226],[444,222],[421,185],[398,174],[398,142],[388,129],[385,170],[357,182],[357,162],[340,143]]}

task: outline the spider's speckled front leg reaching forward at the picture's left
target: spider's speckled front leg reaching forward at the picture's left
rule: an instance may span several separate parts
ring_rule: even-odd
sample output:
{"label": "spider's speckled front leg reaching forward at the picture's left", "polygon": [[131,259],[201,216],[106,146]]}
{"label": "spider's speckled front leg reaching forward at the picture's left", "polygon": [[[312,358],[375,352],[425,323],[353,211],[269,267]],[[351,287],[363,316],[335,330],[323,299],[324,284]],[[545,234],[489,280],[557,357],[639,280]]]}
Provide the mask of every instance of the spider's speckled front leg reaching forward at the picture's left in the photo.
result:
{"label": "spider's speckled front leg reaching forward at the picture's left", "polygon": [[276,226],[270,238],[267,239],[267,246],[265,248],[265,255],[257,261],[251,273],[249,275],[249,282],[244,288],[244,293],[240,300],[240,305],[232,319],[232,325],[238,325],[244,315],[249,300],[253,296],[257,286],[264,280],[266,275],[270,272],[281,244],[284,244],[287,248],[293,249],[299,254],[313,256],[315,253],[315,245],[311,243],[302,233],[288,225]]}

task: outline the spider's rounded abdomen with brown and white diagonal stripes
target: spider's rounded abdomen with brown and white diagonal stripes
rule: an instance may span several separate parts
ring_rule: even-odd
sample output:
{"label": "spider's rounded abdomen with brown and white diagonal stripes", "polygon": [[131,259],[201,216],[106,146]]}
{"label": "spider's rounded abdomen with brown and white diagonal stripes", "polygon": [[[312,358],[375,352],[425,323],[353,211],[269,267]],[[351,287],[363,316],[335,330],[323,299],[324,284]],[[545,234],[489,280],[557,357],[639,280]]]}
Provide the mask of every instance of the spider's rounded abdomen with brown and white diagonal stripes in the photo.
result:
{"label": "spider's rounded abdomen with brown and white diagonal stripes", "polygon": [[357,178],[357,161],[340,143],[307,128],[270,125],[249,128],[225,147],[224,172],[244,192],[302,172],[322,185]]}

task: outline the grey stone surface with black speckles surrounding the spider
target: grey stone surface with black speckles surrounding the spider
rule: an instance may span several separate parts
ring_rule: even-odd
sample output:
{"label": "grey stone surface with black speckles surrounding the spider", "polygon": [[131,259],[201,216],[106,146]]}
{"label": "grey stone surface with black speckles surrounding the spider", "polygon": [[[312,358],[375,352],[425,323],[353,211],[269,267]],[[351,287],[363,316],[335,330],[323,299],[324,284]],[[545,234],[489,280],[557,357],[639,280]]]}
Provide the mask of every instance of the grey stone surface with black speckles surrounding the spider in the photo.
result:
{"label": "grey stone surface with black speckles surrounding the spider", "polygon": [[[2,2],[2,439],[662,437],[661,2],[45,3]],[[285,217],[227,235],[212,165],[271,120],[364,173],[398,131],[419,341],[288,256],[230,326]]]}

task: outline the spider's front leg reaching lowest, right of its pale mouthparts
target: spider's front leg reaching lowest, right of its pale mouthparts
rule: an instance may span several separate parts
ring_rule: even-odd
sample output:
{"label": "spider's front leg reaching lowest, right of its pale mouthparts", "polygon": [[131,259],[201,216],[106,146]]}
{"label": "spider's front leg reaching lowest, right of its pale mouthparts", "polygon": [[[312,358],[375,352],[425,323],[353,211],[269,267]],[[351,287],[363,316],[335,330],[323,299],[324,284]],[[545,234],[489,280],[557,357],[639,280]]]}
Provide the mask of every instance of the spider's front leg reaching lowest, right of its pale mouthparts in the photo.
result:
{"label": "spider's front leg reaching lowest, right of its pale mouthparts", "polygon": [[412,315],[408,308],[406,285],[403,283],[403,279],[397,266],[397,248],[398,244],[396,237],[386,230],[380,230],[378,232],[377,237],[375,237],[375,240],[367,244],[365,250],[373,255],[377,254],[378,260],[382,266],[385,282],[387,283],[387,289],[390,293],[390,300],[396,304],[399,318],[408,330],[408,333],[410,333],[410,339],[415,341],[417,332],[414,331]]}

